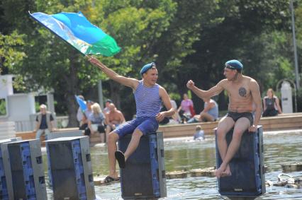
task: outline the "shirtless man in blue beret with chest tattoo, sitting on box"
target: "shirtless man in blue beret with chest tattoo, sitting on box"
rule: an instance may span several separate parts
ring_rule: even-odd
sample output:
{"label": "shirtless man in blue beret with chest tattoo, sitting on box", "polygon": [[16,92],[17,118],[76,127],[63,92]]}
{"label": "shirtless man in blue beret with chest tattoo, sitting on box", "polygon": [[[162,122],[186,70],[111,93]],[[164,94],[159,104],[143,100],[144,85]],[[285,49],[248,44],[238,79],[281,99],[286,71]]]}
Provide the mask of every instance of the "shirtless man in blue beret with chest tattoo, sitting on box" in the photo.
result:
{"label": "shirtless man in blue beret with chest tattoo, sitting on box", "polygon": [[[217,129],[218,150],[223,160],[223,163],[215,172],[218,178],[232,175],[229,163],[240,146],[241,136],[247,129],[250,132],[257,130],[262,113],[259,85],[253,78],[243,76],[242,68],[243,65],[240,61],[227,61],[223,72],[225,79],[210,90],[197,88],[191,80],[186,83],[187,88],[192,90],[199,98],[211,98],[223,90],[228,92],[228,114],[220,119]],[[253,102],[256,106],[255,121],[252,117]],[[233,127],[233,139],[228,146],[225,136]]]}

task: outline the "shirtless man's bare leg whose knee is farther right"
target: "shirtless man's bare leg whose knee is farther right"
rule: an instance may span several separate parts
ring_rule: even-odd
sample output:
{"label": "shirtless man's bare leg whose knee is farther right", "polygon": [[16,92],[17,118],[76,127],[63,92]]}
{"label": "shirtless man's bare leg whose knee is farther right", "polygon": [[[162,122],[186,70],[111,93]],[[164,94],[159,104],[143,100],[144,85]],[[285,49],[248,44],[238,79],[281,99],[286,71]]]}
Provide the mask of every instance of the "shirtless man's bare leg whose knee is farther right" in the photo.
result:
{"label": "shirtless man's bare leg whose knee is farther right", "polygon": [[237,122],[235,123],[233,139],[230,142],[230,145],[228,146],[228,151],[226,151],[225,156],[222,158],[223,163],[221,163],[218,170],[216,170],[216,177],[219,178],[219,177],[231,175],[230,167],[228,163],[230,163],[230,160],[233,158],[238,148],[240,147],[242,134],[249,127],[250,127],[250,121],[245,117],[238,119]]}

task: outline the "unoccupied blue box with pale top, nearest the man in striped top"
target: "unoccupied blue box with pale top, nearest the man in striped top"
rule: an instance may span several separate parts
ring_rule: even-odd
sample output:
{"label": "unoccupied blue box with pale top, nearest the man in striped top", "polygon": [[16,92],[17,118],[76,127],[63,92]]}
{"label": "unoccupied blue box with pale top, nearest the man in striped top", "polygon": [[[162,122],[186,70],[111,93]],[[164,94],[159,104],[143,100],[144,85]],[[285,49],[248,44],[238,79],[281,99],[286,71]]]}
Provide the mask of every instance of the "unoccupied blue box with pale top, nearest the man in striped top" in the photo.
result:
{"label": "unoccupied blue box with pale top, nearest the man in striped top", "polygon": [[48,140],[46,148],[54,199],[95,199],[88,137]]}

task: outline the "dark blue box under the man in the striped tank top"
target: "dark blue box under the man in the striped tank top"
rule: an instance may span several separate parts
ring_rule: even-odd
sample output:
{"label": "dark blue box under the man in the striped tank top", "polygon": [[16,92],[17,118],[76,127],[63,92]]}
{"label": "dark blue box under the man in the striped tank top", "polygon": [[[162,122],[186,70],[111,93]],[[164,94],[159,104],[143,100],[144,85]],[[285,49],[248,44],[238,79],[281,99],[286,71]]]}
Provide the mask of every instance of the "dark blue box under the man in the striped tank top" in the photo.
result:
{"label": "dark blue box under the man in the striped tank top", "polygon": [[[125,153],[131,134],[118,141]],[[121,169],[123,199],[158,199],[167,196],[164,172],[164,146],[162,132],[142,136],[135,152]]]}

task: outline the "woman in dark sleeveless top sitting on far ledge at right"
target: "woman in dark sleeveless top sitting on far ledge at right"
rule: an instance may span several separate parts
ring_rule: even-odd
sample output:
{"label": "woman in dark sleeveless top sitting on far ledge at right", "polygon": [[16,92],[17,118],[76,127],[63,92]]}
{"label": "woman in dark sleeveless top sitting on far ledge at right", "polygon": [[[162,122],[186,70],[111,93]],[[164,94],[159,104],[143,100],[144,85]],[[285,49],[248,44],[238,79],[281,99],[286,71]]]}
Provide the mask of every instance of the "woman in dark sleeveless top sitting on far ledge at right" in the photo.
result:
{"label": "woman in dark sleeveless top sitting on far ledge at right", "polygon": [[267,90],[267,96],[263,98],[263,110],[262,117],[272,117],[282,113],[279,99],[274,95],[272,88]]}

